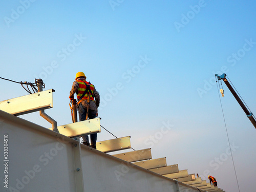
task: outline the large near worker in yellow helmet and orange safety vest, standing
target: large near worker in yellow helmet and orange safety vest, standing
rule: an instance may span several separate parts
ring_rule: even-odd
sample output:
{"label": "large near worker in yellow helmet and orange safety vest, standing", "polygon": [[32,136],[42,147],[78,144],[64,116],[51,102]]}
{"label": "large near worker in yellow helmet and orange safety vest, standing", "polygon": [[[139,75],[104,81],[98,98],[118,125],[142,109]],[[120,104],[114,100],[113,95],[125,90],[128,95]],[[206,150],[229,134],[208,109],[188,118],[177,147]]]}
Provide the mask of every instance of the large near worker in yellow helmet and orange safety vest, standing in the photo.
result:
{"label": "large near worker in yellow helmet and orange safety vest, standing", "polygon": [[[70,91],[70,100],[74,100],[74,94],[77,96],[77,110],[79,114],[79,121],[84,121],[96,118],[97,109],[99,106],[99,92],[91,82],[86,81],[86,75],[83,72],[76,73],[75,81],[72,84]],[[95,100],[94,100],[95,98]],[[97,133],[91,134],[91,145],[89,143],[88,135],[83,135],[83,144],[91,146],[96,149]]]}

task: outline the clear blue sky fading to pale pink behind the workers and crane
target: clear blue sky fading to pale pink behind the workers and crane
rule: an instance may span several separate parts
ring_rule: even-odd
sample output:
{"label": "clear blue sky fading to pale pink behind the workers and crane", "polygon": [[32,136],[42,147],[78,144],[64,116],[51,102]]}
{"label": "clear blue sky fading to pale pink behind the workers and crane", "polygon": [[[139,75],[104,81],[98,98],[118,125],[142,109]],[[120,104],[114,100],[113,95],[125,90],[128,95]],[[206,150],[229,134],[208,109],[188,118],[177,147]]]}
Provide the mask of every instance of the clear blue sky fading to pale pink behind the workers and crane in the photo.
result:
{"label": "clear blue sky fading to pale pink behind the workers and crane", "polygon": [[[252,0],[2,1],[0,76],[42,78],[55,90],[46,113],[62,125],[72,122],[68,97],[82,71],[100,93],[102,126],[236,192],[214,74],[226,73],[256,114],[255,9]],[[223,89],[240,191],[254,191],[256,130]],[[0,90],[0,100],[27,94],[3,79]],[[20,117],[51,127],[39,112]],[[113,138],[98,134],[98,141]]]}

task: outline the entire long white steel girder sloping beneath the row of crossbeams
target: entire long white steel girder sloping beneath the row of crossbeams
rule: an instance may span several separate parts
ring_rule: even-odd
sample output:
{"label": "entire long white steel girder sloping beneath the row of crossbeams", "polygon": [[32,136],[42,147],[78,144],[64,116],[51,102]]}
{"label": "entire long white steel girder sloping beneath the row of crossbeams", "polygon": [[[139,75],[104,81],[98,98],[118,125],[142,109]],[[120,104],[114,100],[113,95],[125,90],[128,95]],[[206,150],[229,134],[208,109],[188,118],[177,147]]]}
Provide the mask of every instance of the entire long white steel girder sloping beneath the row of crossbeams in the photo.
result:
{"label": "entire long white steel girder sloping beneath the row of crossbeams", "polygon": [[[8,135],[9,139],[10,191],[176,192],[177,188],[181,192],[197,191],[86,145],[80,145],[80,158],[79,149],[74,148],[78,141],[3,111],[0,111],[0,135]],[[1,143],[3,140],[0,137]],[[1,154],[3,150],[0,147]],[[4,170],[3,163],[0,169]],[[82,172],[82,178],[78,171]],[[83,189],[79,188],[82,186],[79,177]]]}

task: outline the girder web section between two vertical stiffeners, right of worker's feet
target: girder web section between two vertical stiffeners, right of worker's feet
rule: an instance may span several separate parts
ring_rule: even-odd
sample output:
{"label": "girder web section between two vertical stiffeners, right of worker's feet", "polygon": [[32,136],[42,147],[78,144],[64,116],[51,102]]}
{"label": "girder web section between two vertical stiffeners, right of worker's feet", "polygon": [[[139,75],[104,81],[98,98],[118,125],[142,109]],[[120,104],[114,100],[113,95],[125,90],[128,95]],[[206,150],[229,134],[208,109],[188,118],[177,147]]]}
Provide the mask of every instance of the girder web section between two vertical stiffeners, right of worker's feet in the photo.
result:
{"label": "girder web section between two vertical stiffeners, right of worker's feet", "polygon": [[83,150],[84,191],[176,191],[174,180],[96,150]]}

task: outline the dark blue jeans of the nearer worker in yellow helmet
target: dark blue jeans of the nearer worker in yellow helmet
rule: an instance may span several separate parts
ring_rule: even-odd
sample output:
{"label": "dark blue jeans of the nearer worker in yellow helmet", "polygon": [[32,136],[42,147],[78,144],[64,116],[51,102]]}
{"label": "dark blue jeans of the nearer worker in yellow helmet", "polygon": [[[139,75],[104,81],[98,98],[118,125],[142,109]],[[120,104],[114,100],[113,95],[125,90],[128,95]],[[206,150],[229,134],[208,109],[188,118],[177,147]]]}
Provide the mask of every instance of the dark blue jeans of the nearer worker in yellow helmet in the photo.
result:
{"label": "dark blue jeans of the nearer worker in yellow helmet", "polygon": [[[83,108],[82,104],[80,103],[78,105],[78,114],[79,114],[79,121],[84,121],[87,120],[86,119],[86,114],[87,114],[87,108]],[[89,119],[94,119],[96,118],[96,114],[97,112],[95,110],[90,110],[88,111],[88,117]],[[97,133],[91,134],[91,144],[96,145],[96,141],[97,141]],[[83,135],[82,136],[82,140],[83,142],[89,142],[89,137],[88,135]]]}

